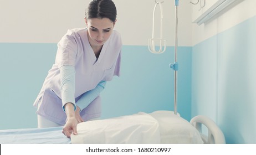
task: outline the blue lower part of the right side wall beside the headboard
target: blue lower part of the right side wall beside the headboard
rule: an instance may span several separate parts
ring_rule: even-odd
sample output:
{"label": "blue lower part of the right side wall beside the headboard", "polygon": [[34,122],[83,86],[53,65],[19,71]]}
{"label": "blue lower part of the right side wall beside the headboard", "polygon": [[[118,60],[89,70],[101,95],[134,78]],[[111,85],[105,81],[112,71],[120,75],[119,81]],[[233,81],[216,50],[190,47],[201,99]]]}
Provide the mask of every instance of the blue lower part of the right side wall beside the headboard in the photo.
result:
{"label": "blue lower part of the right side wall beside the headboard", "polygon": [[192,116],[213,118],[227,143],[256,143],[256,17],[193,46]]}

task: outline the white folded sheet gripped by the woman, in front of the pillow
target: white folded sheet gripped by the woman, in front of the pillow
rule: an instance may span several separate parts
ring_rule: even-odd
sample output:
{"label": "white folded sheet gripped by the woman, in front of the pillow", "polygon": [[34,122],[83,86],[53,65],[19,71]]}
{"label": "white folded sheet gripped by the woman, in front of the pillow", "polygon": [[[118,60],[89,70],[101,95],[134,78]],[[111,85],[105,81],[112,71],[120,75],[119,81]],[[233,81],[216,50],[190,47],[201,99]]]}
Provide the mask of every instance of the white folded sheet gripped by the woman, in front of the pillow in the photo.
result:
{"label": "white folded sheet gripped by the woman, in front of the pillow", "polygon": [[158,122],[147,113],[79,123],[71,143],[160,143]]}

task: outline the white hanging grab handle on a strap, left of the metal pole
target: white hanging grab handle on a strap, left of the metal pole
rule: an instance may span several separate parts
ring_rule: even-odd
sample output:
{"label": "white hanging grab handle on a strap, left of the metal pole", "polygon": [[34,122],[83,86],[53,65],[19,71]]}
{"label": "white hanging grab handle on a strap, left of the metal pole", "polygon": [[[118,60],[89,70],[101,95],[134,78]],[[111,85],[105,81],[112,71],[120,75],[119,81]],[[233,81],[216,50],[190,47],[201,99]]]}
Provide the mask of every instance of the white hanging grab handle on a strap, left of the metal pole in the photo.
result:
{"label": "white hanging grab handle on a strap, left of the metal pole", "polygon": [[[163,18],[163,11],[162,11],[162,3],[155,0],[155,7],[153,9],[153,24],[152,24],[152,38],[149,39],[148,48],[151,53],[161,54],[166,50],[166,40],[162,39],[162,18]],[[160,38],[155,38],[155,11],[156,7],[159,6],[160,8]],[[159,49],[156,50],[156,42],[159,43]]]}

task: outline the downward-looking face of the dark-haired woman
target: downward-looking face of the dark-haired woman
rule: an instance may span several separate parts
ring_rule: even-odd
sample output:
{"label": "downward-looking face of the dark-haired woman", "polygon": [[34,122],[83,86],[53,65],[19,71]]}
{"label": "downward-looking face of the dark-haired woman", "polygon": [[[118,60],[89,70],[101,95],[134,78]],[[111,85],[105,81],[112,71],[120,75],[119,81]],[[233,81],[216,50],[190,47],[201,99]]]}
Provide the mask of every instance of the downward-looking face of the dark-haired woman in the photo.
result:
{"label": "downward-looking face of the dark-haired woman", "polygon": [[85,19],[85,23],[88,27],[89,43],[93,48],[102,46],[109,39],[115,25],[109,18]]}

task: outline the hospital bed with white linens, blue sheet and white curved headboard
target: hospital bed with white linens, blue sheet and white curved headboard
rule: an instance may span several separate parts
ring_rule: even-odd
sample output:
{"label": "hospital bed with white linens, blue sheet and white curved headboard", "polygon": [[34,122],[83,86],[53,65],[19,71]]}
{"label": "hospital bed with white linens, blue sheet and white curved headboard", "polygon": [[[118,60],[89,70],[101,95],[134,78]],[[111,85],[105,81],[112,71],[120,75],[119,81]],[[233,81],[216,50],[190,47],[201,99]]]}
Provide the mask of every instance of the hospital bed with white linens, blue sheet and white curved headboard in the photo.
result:
{"label": "hospital bed with white linens, blue sheet and white curved headboard", "polygon": [[[203,133],[203,126],[208,133]],[[66,138],[62,127],[0,130],[0,143],[225,143],[222,131],[206,116],[186,121],[172,111],[139,112],[78,124]],[[204,129],[204,128],[203,128]]]}

